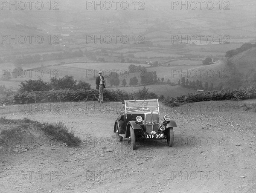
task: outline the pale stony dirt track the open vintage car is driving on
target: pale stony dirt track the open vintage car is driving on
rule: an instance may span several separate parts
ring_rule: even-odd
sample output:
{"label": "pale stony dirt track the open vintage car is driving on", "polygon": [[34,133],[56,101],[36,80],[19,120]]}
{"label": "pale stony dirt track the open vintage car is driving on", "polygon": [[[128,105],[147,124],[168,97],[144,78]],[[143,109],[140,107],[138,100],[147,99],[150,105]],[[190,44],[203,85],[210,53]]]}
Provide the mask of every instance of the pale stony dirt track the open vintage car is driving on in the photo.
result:
{"label": "pale stony dirt track the open vintage car is driving on", "polygon": [[63,121],[84,143],[71,148],[42,138],[34,150],[3,153],[1,193],[255,192],[255,112],[245,111],[245,103],[255,100],[172,109],[161,104],[161,117],[170,112],[178,126],[174,146],[168,147],[165,140],[142,141],[137,150],[128,139],[118,142],[113,133],[119,103],[3,109],[6,118]]}

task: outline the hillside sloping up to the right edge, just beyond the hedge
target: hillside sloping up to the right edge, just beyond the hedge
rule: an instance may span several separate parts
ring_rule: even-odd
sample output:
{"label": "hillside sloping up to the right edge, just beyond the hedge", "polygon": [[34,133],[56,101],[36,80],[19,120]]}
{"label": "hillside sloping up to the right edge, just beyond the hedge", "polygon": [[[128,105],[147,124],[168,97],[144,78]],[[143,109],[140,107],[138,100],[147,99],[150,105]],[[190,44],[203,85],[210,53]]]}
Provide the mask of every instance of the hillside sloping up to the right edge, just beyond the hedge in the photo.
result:
{"label": "hillside sloping up to the right edge, just beyond the hedge", "polygon": [[[229,60],[229,61],[228,61]],[[246,84],[249,76],[255,76],[256,72],[256,48],[253,47],[231,58],[207,66],[199,66],[193,69],[187,69],[187,78],[190,81],[202,81],[208,84],[213,83],[214,86],[223,84],[224,88],[239,88],[236,85],[231,85],[236,82],[237,85]],[[232,65],[230,65],[233,63]],[[252,78],[253,80],[253,78]],[[247,84],[250,86],[251,84]]]}

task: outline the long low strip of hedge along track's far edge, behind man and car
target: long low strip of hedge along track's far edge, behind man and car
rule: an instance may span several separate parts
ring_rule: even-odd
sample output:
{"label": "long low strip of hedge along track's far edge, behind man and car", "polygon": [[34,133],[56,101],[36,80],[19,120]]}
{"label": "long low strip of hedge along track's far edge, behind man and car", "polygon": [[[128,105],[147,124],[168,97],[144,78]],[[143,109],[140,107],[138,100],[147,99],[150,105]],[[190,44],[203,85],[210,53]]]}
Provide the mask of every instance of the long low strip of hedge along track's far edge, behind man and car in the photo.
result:
{"label": "long low strip of hedge along track's far edge, behind man and car", "polygon": [[[134,92],[124,90],[104,89],[105,101],[124,101],[136,99],[153,99],[159,98],[164,104],[175,107],[184,103],[201,102],[201,101],[223,101],[223,100],[245,100],[256,98],[256,85],[245,89],[209,91],[182,95],[176,98],[158,97],[153,92],[148,92],[145,87]],[[59,89],[49,91],[31,91],[18,92],[12,98],[13,104],[27,103],[44,103],[44,102],[66,102],[66,101],[96,101],[98,100],[99,90],[97,89]]]}

